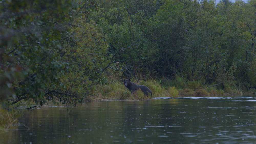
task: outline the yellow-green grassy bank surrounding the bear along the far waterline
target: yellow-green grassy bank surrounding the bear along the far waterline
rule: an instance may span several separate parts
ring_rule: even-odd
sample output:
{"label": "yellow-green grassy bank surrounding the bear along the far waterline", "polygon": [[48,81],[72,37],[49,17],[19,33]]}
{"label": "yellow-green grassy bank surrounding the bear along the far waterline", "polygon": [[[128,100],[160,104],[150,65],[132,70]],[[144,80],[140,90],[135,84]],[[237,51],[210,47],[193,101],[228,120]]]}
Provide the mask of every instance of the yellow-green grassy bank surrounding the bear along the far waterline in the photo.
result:
{"label": "yellow-green grassy bank surrounding the bear along the far waterline", "polygon": [[[175,80],[133,80],[134,83],[145,85],[152,91],[152,97],[218,97],[218,96],[242,96],[253,94],[255,89],[250,91],[239,90],[235,84],[224,83],[218,86],[202,85],[201,81],[186,81],[177,77]],[[123,84],[123,80],[111,80],[106,85],[101,85],[95,91],[93,100],[140,100],[151,99],[143,95],[142,91],[131,94]]]}

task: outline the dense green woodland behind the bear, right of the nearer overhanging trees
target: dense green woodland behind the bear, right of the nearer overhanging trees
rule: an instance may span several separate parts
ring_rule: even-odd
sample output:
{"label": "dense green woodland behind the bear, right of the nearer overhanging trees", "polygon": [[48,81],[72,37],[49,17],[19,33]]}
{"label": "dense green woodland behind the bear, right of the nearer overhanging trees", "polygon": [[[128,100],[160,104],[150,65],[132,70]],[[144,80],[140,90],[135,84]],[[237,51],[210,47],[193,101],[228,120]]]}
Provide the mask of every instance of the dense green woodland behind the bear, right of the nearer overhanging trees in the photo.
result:
{"label": "dense green woodland behind the bear, right of the nearer overhanging trees", "polygon": [[93,19],[135,74],[255,88],[256,2],[99,1]]}

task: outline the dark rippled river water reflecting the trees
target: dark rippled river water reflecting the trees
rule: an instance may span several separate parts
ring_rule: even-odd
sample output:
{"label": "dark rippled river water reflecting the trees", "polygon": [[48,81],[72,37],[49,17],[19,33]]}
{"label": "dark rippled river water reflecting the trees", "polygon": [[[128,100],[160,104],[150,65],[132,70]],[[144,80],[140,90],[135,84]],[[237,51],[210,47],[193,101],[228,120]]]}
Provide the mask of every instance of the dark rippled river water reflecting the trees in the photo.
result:
{"label": "dark rippled river water reflecting the trees", "polygon": [[[156,98],[24,110],[1,143],[255,143],[256,99]],[[29,129],[28,129],[29,128]]]}

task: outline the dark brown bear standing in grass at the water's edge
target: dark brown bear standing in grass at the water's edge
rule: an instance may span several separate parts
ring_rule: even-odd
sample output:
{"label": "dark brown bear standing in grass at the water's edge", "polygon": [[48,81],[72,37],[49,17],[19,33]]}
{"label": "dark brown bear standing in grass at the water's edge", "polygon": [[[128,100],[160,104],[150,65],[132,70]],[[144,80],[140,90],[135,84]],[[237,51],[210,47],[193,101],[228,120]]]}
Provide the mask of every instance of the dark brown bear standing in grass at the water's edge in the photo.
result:
{"label": "dark brown bear standing in grass at the water's edge", "polygon": [[135,90],[137,89],[141,89],[141,91],[143,91],[144,95],[151,95],[152,96],[152,91],[144,85],[137,85],[133,82],[131,82],[131,80],[124,80],[124,86],[127,87],[129,90],[132,91],[132,94]]}

